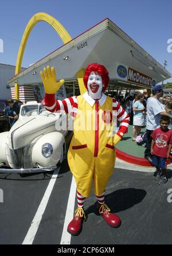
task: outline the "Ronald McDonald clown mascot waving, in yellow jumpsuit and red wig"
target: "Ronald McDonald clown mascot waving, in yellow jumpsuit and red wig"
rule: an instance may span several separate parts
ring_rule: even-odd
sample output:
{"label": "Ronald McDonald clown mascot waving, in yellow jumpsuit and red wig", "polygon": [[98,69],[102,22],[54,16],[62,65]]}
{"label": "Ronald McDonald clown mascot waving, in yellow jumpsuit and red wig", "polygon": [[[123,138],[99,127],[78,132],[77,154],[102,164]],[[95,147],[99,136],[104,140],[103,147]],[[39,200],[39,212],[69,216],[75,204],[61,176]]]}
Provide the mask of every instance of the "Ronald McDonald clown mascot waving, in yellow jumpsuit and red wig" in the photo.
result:
{"label": "Ronald McDonald clown mascot waving, in yellow jumpsuit and red wig", "polygon": [[[40,74],[45,88],[42,104],[51,112],[65,111],[73,118],[68,163],[76,180],[78,208],[68,225],[68,232],[72,235],[81,232],[83,220],[86,219],[83,205],[91,192],[92,180],[97,197],[97,213],[111,227],[119,227],[120,219],[110,212],[104,202],[104,195],[114,170],[115,145],[126,133],[130,118],[115,99],[103,93],[109,82],[108,71],[97,63],[88,65],[84,74],[87,92],[62,101],[55,100],[55,93],[64,80],[57,82],[54,67],[50,69],[48,66]],[[113,132],[115,116],[120,123],[116,134]]]}

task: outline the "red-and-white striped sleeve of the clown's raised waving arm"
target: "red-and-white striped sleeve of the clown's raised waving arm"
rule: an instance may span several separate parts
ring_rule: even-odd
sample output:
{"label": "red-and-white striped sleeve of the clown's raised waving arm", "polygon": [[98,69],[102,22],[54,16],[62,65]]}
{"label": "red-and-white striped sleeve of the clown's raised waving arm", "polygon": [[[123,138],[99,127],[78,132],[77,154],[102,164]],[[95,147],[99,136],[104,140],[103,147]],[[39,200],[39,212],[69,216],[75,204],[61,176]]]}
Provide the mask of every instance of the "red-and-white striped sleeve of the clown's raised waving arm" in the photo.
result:
{"label": "red-and-white striped sleeve of the clown's raised waving arm", "polygon": [[77,115],[77,97],[69,97],[64,100],[56,100],[54,94],[46,94],[41,102],[45,106],[46,110],[50,112],[61,112],[65,111],[67,114],[71,114],[73,118]]}

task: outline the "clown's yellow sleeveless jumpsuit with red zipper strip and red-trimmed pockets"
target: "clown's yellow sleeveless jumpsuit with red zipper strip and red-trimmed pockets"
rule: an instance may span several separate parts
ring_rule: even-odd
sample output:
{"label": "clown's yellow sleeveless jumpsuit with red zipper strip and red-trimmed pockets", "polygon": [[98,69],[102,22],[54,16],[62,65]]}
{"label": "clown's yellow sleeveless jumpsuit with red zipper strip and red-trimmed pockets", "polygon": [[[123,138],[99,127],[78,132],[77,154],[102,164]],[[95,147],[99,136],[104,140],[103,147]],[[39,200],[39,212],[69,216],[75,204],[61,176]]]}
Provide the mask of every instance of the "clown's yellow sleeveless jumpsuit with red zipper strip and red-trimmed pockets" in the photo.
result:
{"label": "clown's yellow sleeveless jumpsuit with red zipper strip and red-trimmed pockets", "polygon": [[[99,196],[103,194],[115,165],[114,137],[108,133],[111,131],[112,134],[113,122],[108,122],[107,129],[104,129],[107,115],[107,119],[110,119],[110,111],[112,116],[112,98],[107,97],[101,107],[98,103],[91,107],[82,95],[77,100],[78,112],[73,121],[68,163],[76,180],[77,191],[83,197],[88,197],[93,180],[95,195]],[[96,110],[99,110],[99,115],[96,115]],[[79,126],[82,129],[78,129]]]}

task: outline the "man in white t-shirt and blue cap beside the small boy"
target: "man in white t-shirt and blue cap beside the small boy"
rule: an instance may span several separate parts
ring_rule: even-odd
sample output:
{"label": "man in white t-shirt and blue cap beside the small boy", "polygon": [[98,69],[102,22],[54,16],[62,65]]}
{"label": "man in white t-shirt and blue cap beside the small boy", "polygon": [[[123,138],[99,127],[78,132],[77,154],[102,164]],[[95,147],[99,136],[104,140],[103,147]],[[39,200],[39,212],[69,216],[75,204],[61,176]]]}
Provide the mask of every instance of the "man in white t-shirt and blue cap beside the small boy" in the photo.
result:
{"label": "man in white t-shirt and blue cap beside the small boy", "polygon": [[147,121],[146,121],[146,135],[147,135],[147,143],[146,150],[144,151],[144,157],[148,161],[152,161],[151,155],[151,134],[157,127],[160,125],[160,119],[162,115],[169,116],[167,114],[163,104],[159,101],[159,98],[163,96],[163,87],[161,85],[155,85],[153,88],[153,96],[147,99]]}

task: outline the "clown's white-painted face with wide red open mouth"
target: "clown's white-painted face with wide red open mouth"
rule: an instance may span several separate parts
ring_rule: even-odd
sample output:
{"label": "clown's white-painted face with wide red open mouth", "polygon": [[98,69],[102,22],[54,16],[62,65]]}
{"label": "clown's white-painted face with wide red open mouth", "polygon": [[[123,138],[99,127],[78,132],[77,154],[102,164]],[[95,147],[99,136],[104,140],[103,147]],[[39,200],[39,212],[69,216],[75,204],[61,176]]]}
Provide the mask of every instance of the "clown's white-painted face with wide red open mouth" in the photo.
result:
{"label": "clown's white-painted face with wide red open mouth", "polygon": [[87,82],[88,94],[93,99],[100,99],[103,90],[102,78],[95,71],[91,71]]}

